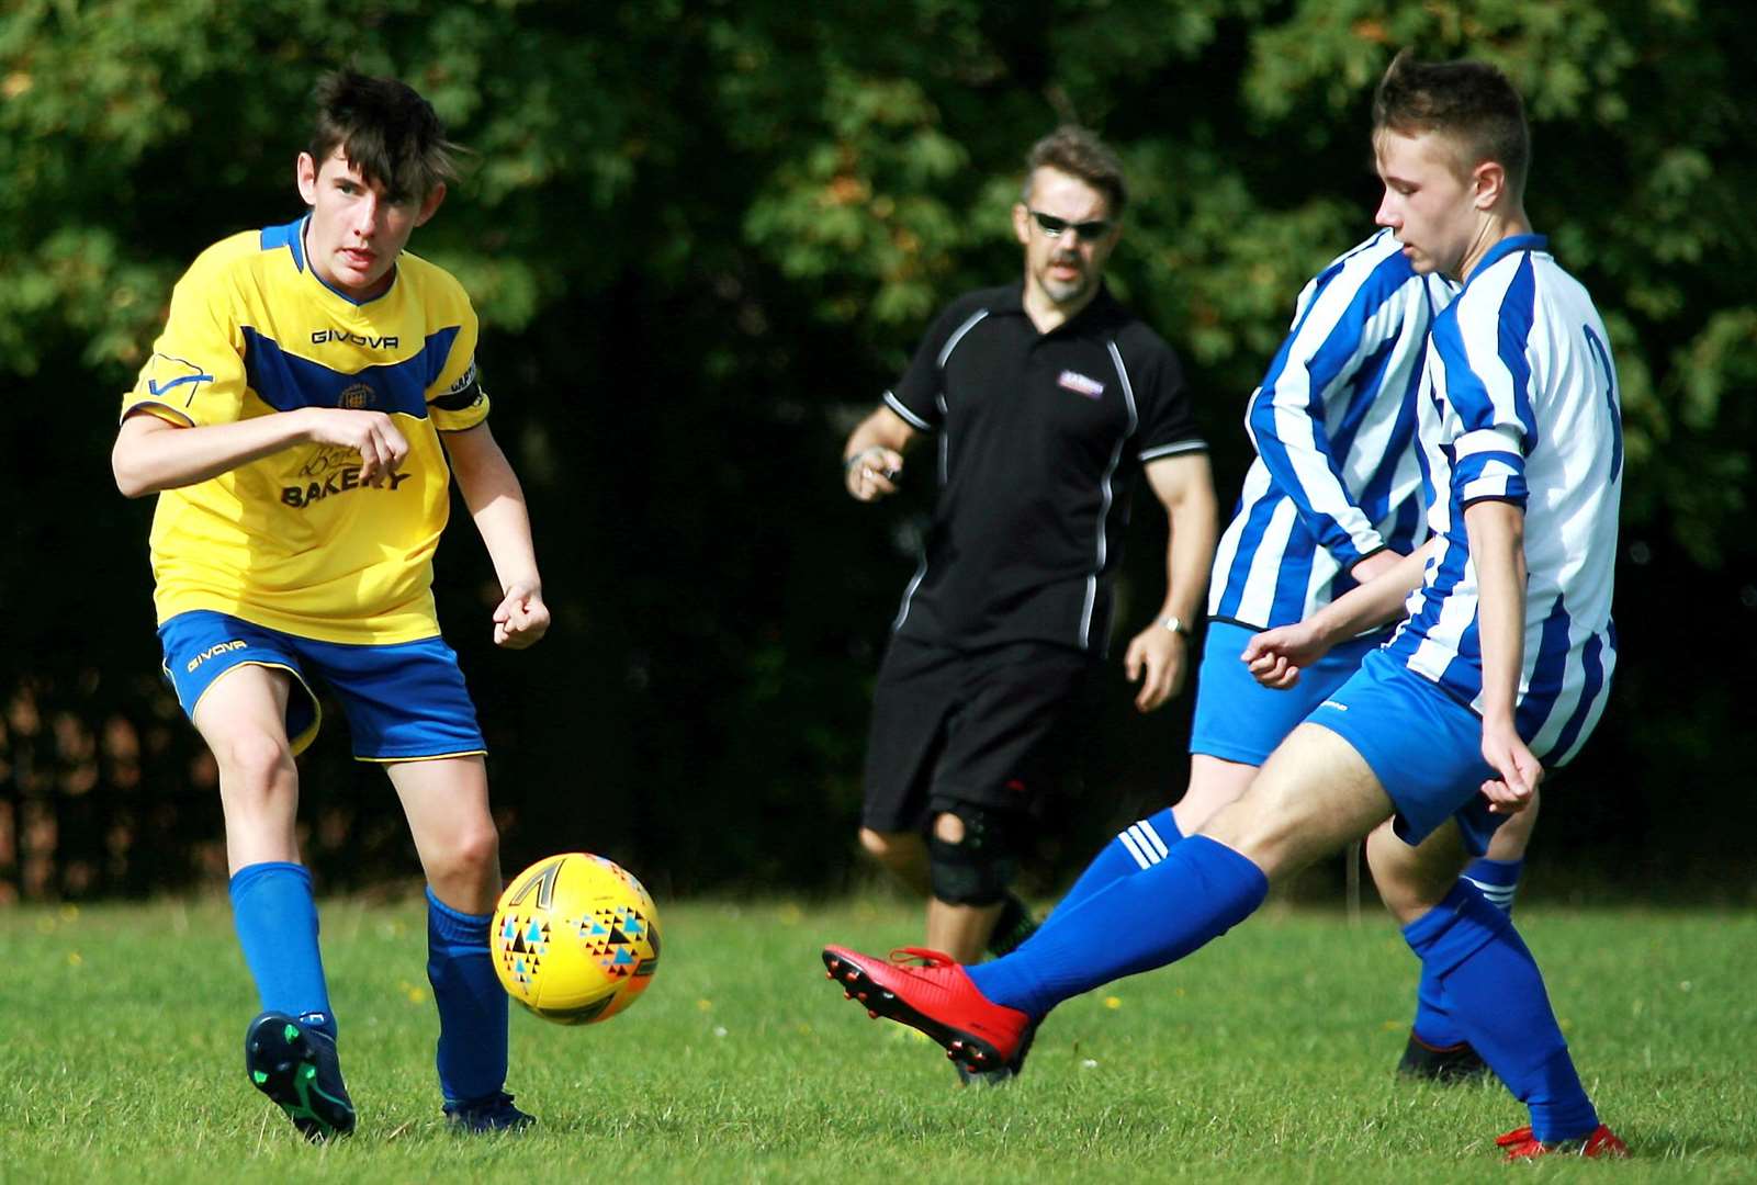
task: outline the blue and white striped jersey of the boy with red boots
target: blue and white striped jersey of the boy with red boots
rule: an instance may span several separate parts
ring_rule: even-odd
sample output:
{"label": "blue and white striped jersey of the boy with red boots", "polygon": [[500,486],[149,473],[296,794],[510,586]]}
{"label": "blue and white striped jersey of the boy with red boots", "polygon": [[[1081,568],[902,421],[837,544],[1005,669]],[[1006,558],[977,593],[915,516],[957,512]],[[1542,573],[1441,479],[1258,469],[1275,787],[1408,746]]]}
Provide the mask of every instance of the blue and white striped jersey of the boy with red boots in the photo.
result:
{"label": "blue and white striped jersey of the boy with red boots", "polygon": [[1562,764],[1604,711],[1616,630],[1611,583],[1623,430],[1616,369],[1592,297],[1515,235],[1434,321],[1420,395],[1428,528],[1437,535],[1388,653],[1481,711],[1478,585],[1464,511],[1525,509],[1525,669],[1516,722]]}

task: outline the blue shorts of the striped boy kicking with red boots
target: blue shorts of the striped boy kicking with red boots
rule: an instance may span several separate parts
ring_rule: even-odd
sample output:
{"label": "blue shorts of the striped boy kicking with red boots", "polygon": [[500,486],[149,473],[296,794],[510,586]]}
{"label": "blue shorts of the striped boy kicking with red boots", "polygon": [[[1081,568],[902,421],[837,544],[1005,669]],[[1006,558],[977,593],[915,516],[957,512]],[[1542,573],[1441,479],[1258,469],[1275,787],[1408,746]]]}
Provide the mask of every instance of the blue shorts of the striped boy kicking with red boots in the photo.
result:
{"label": "blue shorts of the striped boy kicking with red boots", "polygon": [[1483,718],[1374,650],[1348,683],[1332,692],[1307,723],[1348,741],[1397,806],[1397,836],[1414,846],[1448,818],[1457,820],[1471,855],[1488,851],[1506,815],[1492,815],[1483,783],[1495,769],[1483,760]]}

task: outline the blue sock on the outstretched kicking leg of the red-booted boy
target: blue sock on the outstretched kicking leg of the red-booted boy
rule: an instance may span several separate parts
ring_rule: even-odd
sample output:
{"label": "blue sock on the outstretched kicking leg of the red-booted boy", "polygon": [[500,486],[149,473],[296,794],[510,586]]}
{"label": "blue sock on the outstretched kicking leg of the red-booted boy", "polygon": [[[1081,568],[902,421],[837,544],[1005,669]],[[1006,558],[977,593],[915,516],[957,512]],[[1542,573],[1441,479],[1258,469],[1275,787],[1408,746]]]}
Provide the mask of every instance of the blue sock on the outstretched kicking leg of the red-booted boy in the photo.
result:
{"label": "blue sock on the outstretched kicking leg of the red-booted boy", "polygon": [[1251,916],[1267,894],[1262,869],[1191,836],[1153,867],[1058,908],[1005,959],[965,971],[996,1004],[1044,1016],[1100,983],[1182,959]]}

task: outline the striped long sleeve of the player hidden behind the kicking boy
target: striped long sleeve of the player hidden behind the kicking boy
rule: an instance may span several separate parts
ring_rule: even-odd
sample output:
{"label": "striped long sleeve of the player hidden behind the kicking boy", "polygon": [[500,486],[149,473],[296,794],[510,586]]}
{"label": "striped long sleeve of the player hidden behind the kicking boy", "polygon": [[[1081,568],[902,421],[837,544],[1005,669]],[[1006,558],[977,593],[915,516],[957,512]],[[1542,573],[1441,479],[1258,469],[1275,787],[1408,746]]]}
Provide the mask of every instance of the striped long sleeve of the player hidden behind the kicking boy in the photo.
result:
{"label": "striped long sleeve of the player hidden behind the kicking boy", "polygon": [[[1246,430],[1305,528],[1344,569],[1385,548],[1358,492],[1344,476],[1327,428],[1334,399],[1349,399],[1349,379],[1427,304],[1420,279],[1386,235],[1349,251],[1300,293],[1293,330],[1262,386],[1251,395]],[[1420,332],[1418,328],[1418,332]]]}

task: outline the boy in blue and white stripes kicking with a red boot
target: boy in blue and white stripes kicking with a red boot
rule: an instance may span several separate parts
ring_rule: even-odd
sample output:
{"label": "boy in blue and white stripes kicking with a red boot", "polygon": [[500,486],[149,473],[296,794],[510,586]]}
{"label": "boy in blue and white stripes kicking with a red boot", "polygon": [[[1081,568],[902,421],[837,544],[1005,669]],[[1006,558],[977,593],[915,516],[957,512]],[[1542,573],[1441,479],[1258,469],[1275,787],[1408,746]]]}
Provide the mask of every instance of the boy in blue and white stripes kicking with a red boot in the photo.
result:
{"label": "boy in blue and white stripes kicking with a red boot", "polygon": [[1622,483],[1604,327],[1530,233],[1525,114],[1499,70],[1399,56],[1374,102],[1374,151],[1379,225],[1418,274],[1464,281],[1435,318],[1418,404],[1434,537],[1244,653],[1260,681],[1293,685],[1334,643],[1407,609],[1392,643],[1200,834],[1056,909],[1012,955],[908,967],[831,946],[824,960],[863,1006],[954,1059],[1016,1064],[1061,1001],[1198,950],[1254,913],[1270,880],[1370,836],[1404,937],[1530,1111],[1499,1139],[1508,1157],[1623,1155],[1530,952],[1458,881],[1499,822],[1530,804],[1541,760],[1565,760],[1602,709]]}

